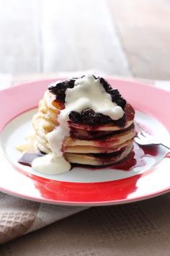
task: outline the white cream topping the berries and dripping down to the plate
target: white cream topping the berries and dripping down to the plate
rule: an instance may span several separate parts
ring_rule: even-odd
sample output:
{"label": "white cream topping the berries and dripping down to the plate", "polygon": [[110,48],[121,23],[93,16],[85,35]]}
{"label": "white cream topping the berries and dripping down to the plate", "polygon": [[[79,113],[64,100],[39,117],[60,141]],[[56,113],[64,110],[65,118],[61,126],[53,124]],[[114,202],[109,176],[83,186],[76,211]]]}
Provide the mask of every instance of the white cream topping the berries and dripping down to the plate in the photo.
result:
{"label": "white cream topping the berries and dripping down to the plate", "polygon": [[[74,82],[74,88],[66,90],[65,108],[58,115],[58,127],[46,135],[52,153],[36,158],[32,162],[32,168],[37,171],[58,174],[69,171],[70,163],[63,157],[62,145],[65,137],[70,134],[68,127],[71,111],[81,113],[86,108],[109,116],[113,120],[122,118],[124,111],[116,103],[112,102],[111,95],[107,93],[99,79],[93,75],[86,75]],[[45,159],[48,163],[45,163]],[[56,167],[56,170],[55,170]]]}

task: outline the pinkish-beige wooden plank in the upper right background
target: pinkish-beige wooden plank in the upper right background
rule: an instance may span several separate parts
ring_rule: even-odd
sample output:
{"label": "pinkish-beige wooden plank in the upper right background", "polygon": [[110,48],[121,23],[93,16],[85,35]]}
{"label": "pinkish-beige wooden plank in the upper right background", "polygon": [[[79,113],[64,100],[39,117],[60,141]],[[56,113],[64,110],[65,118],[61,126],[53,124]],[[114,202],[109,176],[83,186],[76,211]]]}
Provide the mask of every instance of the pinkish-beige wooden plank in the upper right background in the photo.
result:
{"label": "pinkish-beige wooden plank in the upper right background", "polygon": [[170,1],[108,0],[135,77],[170,79]]}

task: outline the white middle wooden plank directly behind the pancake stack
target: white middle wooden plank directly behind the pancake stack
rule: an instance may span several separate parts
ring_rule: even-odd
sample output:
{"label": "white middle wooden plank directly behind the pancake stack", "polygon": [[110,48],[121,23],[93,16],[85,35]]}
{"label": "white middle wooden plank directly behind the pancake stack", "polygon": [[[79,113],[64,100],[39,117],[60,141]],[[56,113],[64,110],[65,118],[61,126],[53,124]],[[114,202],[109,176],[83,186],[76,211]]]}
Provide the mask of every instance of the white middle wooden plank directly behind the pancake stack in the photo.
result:
{"label": "white middle wooden plank directly behind the pancake stack", "polygon": [[43,0],[40,7],[44,72],[130,75],[105,0]]}

